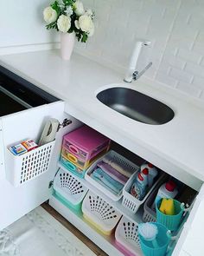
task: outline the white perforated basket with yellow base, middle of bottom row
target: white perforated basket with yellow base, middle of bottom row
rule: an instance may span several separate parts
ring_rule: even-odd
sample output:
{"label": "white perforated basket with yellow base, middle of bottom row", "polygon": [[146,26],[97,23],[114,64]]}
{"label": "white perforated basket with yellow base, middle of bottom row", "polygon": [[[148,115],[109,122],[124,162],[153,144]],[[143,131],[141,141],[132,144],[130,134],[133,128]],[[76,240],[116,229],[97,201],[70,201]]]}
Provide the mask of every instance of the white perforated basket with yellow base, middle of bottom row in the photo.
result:
{"label": "white perforated basket with yellow base, middle of bottom row", "polygon": [[82,202],[82,212],[84,218],[105,235],[112,233],[122,216],[114,207],[90,191]]}

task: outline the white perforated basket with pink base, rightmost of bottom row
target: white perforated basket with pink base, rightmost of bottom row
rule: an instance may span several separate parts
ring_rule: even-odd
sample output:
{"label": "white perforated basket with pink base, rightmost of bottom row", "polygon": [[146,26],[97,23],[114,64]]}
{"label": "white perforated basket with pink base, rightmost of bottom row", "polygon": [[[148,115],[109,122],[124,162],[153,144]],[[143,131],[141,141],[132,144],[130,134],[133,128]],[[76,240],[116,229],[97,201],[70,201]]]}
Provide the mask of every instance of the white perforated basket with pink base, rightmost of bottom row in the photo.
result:
{"label": "white perforated basket with pink base, rightmost of bottom row", "polygon": [[125,252],[125,255],[130,255],[130,253],[131,255],[141,255],[137,229],[137,222],[132,222],[124,216],[118,223],[115,239],[117,245]]}

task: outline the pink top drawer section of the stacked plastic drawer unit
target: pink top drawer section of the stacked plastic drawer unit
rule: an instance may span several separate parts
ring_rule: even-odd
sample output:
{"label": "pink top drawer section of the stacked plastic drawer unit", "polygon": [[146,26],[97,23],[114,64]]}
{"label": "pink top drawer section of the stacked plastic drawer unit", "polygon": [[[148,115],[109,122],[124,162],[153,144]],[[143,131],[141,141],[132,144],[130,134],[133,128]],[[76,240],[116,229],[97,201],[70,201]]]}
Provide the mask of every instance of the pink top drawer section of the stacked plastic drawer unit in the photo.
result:
{"label": "pink top drawer section of the stacked plastic drawer unit", "polygon": [[82,126],[63,138],[63,148],[66,148],[67,154],[75,156],[81,162],[90,162],[102,151],[107,151],[109,144],[110,139],[87,126]]}

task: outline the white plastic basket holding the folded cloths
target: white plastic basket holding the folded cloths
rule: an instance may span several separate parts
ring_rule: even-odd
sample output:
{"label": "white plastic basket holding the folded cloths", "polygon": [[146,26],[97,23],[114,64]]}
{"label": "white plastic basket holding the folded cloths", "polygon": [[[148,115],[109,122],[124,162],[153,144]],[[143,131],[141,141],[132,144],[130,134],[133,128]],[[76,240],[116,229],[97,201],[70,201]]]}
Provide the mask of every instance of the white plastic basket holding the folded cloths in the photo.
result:
{"label": "white plastic basket holding the folded cloths", "polygon": [[121,191],[120,194],[116,195],[113,194],[110,190],[108,190],[106,187],[104,187],[103,185],[100,185],[99,182],[95,181],[92,179],[92,171],[94,170],[94,168],[97,166],[97,164],[100,161],[103,161],[103,158],[105,156],[108,156],[109,158],[112,159],[112,161],[114,161],[115,163],[118,164],[118,166],[122,167],[124,170],[128,170],[129,172],[131,172],[132,174],[138,171],[138,167],[137,165],[135,165],[134,163],[132,163],[131,161],[127,160],[126,158],[124,158],[124,156],[118,154],[117,152],[111,150],[108,153],[106,153],[104,156],[100,157],[99,160],[95,161],[91,167],[89,167],[86,171],[85,174],[85,179],[86,181],[89,181],[94,187],[97,187],[101,192],[103,192],[104,194],[106,194],[107,196],[109,196],[112,200],[120,200],[121,197],[123,196],[123,191]]}

